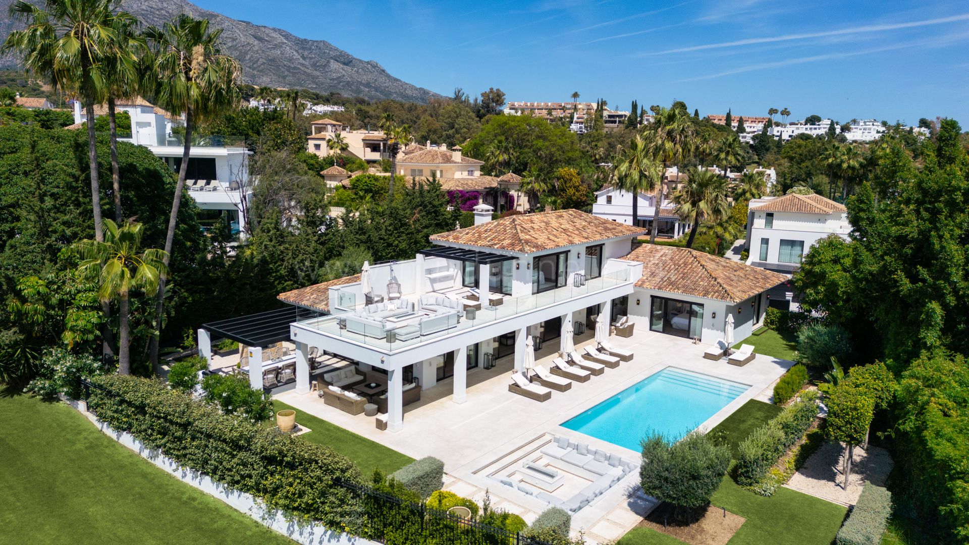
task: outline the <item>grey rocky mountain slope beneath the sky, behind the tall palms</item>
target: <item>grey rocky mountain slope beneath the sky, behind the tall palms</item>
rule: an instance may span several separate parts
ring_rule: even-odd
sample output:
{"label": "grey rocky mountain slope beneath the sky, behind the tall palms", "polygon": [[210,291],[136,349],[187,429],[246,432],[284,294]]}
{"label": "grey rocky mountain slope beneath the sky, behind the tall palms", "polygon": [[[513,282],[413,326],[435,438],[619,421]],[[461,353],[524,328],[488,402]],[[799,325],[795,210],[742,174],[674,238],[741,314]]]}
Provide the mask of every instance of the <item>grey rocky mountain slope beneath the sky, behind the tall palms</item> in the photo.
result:
{"label": "grey rocky mountain slope beneath the sky, behind the tall palms", "polygon": [[[15,0],[0,0],[0,37],[15,28],[7,16]],[[203,10],[185,0],[123,0],[123,9],[145,24],[161,25],[178,14],[207,18],[224,29],[227,52],[242,65],[242,79],[253,85],[307,88],[368,99],[426,102],[436,93],[398,80],[372,60],[360,60],[323,40],[306,40],[279,28],[261,26]],[[388,54],[393,54],[388,49]],[[14,59],[0,58],[11,66]]]}

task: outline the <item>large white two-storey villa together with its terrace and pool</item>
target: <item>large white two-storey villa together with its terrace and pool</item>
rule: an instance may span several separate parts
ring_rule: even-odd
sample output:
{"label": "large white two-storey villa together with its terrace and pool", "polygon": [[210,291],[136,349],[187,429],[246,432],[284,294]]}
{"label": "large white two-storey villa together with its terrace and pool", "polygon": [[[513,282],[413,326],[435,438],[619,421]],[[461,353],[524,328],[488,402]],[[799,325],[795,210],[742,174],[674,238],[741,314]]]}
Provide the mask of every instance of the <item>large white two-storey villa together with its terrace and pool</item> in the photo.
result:
{"label": "large white two-storey villa together with its terrace and pool", "polygon": [[637,244],[641,227],[574,209],[492,220],[482,208],[413,260],[205,324],[200,353],[213,361],[212,338],[233,338],[240,369],[215,372],[247,373],[298,410],[441,458],[459,496],[489,491],[532,517],[560,506],[574,528],[614,539],[603,521],[651,505],[625,496],[643,433],[713,426],[791,365],[724,342],[761,323],[766,292],[786,277]]}

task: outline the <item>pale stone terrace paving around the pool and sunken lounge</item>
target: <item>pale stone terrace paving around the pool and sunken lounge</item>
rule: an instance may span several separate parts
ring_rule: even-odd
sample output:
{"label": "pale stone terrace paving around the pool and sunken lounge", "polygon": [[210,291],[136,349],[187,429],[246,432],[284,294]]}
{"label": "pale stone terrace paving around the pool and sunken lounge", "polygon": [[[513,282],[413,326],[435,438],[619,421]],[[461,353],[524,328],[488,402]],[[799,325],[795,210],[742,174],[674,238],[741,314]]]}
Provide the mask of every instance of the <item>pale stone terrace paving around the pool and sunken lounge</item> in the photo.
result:
{"label": "pale stone terrace paving around the pool and sunken lounge", "polygon": [[[635,317],[631,317],[636,321]],[[413,458],[434,456],[444,461],[448,473],[446,489],[476,501],[491,496],[495,508],[521,515],[530,522],[547,505],[479,475],[477,471],[510,452],[522,448],[544,433],[566,434],[586,441],[590,447],[609,450],[623,458],[638,460],[638,452],[624,449],[559,424],[605,401],[622,390],[667,367],[702,372],[751,387],[739,398],[714,414],[702,427],[709,430],[722,422],[746,401],[762,394],[793,362],[757,356],[746,366],[729,365],[726,360],[703,359],[703,344],[692,340],[652,333],[640,318],[633,337],[611,337],[617,348],[635,353],[630,362],[617,369],[606,369],[585,383],[574,382],[568,392],[554,392],[545,402],[533,401],[508,391],[514,358],[499,360],[494,369],[472,369],[467,376],[467,401],[452,401],[451,379],[422,392],[422,400],[404,407],[404,426],[396,433],[377,430],[373,417],[350,415],[324,404],[316,392],[284,392],[274,396],[298,410],[359,433]],[[592,342],[591,335],[577,338],[579,350]],[[538,365],[548,366],[555,357],[558,342],[548,342],[536,356]],[[640,415],[631,415],[640,416]],[[641,416],[640,416],[641,417]],[[298,416],[297,416],[298,420]],[[633,528],[652,502],[639,493],[638,475],[628,475],[608,493],[597,497],[573,517],[573,529],[584,529],[591,541],[615,540]]]}

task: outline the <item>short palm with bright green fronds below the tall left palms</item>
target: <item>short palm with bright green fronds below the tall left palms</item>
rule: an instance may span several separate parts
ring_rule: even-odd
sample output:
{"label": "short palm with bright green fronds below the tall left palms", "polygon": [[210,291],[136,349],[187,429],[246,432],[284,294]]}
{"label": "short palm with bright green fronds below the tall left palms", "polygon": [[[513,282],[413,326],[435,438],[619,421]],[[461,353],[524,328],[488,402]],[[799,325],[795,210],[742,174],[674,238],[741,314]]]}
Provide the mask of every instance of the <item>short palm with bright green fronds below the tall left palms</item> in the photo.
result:
{"label": "short palm with bright green fronds below the tall left palms", "polygon": [[80,272],[98,277],[98,299],[103,303],[118,301],[118,373],[131,374],[131,333],[128,305],[131,292],[154,295],[167,270],[164,251],[141,249],[141,223],[118,227],[105,220],[104,240],[80,240],[74,251],[80,257]]}

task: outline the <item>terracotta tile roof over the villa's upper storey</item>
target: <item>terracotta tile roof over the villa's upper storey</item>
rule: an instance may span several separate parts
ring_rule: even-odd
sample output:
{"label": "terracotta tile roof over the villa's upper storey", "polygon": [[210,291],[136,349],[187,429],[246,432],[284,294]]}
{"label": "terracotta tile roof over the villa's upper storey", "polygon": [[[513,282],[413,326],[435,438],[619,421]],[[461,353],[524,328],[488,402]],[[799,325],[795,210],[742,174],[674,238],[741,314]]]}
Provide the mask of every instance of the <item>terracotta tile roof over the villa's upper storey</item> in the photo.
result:
{"label": "terracotta tile roof over the villa's upper storey", "polygon": [[430,240],[532,253],[572,244],[633,237],[645,232],[638,227],[575,209],[565,209],[516,214],[481,225],[432,235]]}

